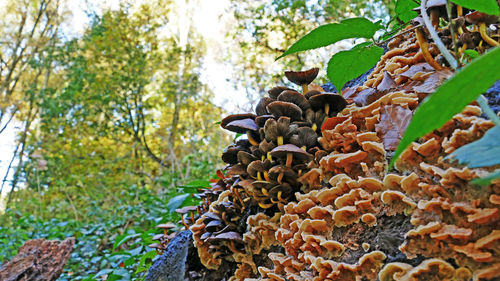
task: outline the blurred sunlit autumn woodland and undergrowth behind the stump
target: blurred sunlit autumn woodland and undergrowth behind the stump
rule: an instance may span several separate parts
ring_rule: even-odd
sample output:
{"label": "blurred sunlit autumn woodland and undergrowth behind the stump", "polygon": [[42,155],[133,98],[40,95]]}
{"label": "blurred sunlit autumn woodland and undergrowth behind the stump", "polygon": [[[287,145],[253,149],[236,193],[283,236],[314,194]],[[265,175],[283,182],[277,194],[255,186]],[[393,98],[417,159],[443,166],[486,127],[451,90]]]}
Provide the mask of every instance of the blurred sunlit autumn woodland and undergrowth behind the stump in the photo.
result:
{"label": "blurred sunlit autumn woodland and undergrowth behind the stump", "polygon": [[[235,136],[222,116],[287,85],[287,69],[317,66],[326,82],[328,58],[352,42],[274,59],[320,24],[389,24],[394,9],[221,0],[210,14],[202,0],[91,2],[81,31],[74,1],[0,2],[0,263],[25,240],[74,236],[60,280],[144,278],[154,226],[177,221],[172,210],[223,167]],[[220,32],[201,30],[202,15]]]}

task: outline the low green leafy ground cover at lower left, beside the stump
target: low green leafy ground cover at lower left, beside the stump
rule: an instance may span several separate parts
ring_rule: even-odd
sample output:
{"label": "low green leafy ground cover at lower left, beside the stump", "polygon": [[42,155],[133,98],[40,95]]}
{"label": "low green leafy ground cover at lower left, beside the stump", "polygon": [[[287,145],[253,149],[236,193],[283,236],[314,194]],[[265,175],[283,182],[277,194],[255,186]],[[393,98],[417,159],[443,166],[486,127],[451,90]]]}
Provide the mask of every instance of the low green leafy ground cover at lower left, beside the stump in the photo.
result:
{"label": "low green leafy ground cover at lower left, beside the stump", "polygon": [[[142,280],[157,254],[147,247],[153,243],[152,237],[161,233],[155,225],[180,219],[165,208],[178,191],[183,189],[155,195],[131,187],[122,192],[113,211],[95,206],[92,212],[101,219],[89,223],[74,219],[43,220],[7,210],[0,220],[0,263],[13,257],[26,240],[62,240],[73,236],[75,250],[58,280],[101,280],[100,275],[107,275],[107,280]],[[135,203],[130,204],[131,201]]]}

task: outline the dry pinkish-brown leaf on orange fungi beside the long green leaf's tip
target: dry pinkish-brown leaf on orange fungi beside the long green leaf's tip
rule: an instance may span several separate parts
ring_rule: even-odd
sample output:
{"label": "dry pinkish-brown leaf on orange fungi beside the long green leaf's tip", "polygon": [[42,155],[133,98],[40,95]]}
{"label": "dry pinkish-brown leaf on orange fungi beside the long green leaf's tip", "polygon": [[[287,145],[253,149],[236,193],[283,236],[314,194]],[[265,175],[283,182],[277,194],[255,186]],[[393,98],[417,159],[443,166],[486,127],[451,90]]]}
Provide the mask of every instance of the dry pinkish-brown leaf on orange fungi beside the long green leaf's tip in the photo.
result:
{"label": "dry pinkish-brown leaf on orange fungi beside the long green leaf's tip", "polygon": [[380,108],[380,122],[375,129],[384,141],[386,150],[396,150],[408,127],[412,111],[399,105],[385,105]]}

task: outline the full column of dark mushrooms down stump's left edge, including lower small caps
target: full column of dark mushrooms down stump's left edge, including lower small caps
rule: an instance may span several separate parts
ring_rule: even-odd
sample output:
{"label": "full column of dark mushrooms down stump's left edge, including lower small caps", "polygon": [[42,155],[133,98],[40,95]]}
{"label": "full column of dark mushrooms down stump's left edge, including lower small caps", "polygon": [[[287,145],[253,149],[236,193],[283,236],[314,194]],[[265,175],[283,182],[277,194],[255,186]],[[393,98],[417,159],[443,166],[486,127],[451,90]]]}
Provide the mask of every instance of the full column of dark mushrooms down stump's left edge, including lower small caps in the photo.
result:
{"label": "full column of dark mushrooms down stump's left edge, including lower small caps", "polygon": [[259,212],[283,212],[295,200],[295,192],[300,192],[299,177],[315,165],[311,160],[324,155],[317,142],[321,126],[347,102],[341,95],[310,87],[317,74],[318,68],[285,72],[302,92],[274,87],[257,104],[255,114],[229,115],[221,121],[222,128],[247,138],[223,152],[222,160],[228,165],[215,186],[224,191],[217,200],[205,202],[206,212],[191,226],[208,268],[216,268],[217,259],[230,260],[232,254],[243,252],[246,218]]}

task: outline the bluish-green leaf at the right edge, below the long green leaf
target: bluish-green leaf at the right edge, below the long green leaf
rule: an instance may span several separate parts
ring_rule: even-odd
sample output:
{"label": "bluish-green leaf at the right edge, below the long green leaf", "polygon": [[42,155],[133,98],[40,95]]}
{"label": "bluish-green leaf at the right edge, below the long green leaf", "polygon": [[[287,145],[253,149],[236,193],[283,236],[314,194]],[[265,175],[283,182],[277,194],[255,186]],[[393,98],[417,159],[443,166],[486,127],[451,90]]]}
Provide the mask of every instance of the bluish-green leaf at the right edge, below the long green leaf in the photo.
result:
{"label": "bluish-green leaf at the right edge, below the long green leaf", "polygon": [[469,168],[500,164],[500,126],[489,129],[482,138],[460,147],[448,155]]}

